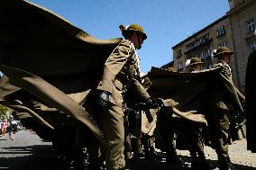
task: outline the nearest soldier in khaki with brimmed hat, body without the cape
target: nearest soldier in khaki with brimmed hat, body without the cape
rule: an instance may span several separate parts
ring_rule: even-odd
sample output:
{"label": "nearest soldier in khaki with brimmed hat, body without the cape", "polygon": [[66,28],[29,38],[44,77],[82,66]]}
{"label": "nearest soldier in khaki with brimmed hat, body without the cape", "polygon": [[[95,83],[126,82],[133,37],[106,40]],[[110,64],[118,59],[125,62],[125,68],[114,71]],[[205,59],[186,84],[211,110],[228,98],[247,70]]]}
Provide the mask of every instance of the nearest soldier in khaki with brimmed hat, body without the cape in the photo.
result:
{"label": "nearest soldier in khaki with brimmed hat, body without the cape", "polygon": [[103,130],[107,146],[105,149],[105,163],[107,170],[123,169],[123,94],[126,89],[133,89],[134,93],[152,106],[158,105],[158,100],[152,100],[141,85],[140,58],[136,49],[142,48],[147,35],[138,24],[123,26],[121,41],[112,54],[106,59],[103,76],[96,87],[96,101],[102,111],[99,114],[100,127]]}

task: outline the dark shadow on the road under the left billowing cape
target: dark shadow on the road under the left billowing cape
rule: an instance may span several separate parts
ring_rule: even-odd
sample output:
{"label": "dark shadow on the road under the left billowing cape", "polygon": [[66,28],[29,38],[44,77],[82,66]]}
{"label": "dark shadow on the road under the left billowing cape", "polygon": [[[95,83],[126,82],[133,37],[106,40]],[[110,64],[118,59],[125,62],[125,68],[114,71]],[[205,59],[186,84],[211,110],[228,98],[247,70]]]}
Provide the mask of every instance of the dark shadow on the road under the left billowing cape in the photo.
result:
{"label": "dark shadow on the road under the left billowing cape", "polygon": [[62,159],[58,158],[57,154],[51,150],[50,146],[34,145],[27,147],[10,147],[4,149],[7,150],[7,152],[0,152],[0,169],[66,169],[65,162],[63,162]]}

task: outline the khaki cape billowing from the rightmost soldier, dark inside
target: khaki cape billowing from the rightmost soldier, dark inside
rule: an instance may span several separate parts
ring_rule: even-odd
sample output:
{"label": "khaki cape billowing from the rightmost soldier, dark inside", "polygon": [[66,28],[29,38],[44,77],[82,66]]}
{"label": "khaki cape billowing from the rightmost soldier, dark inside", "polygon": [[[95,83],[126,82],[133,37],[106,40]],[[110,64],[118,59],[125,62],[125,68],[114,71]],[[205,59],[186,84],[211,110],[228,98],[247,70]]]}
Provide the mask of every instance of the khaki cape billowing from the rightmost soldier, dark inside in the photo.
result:
{"label": "khaki cape billowing from the rightmost soldier, dark inside", "polygon": [[232,104],[235,110],[242,111],[241,100],[245,98],[240,96],[242,94],[233,85],[233,81],[224,76],[221,68],[197,73],[179,73],[152,67],[147,76],[152,83],[148,89],[149,94],[163,99],[164,104],[180,118],[207,124],[206,106],[210,101],[209,96],[214,96],[214,91],[211,90],[213,79],[219,80],[218,85],[222,86],[224,93],[227,94],[224,102]]}

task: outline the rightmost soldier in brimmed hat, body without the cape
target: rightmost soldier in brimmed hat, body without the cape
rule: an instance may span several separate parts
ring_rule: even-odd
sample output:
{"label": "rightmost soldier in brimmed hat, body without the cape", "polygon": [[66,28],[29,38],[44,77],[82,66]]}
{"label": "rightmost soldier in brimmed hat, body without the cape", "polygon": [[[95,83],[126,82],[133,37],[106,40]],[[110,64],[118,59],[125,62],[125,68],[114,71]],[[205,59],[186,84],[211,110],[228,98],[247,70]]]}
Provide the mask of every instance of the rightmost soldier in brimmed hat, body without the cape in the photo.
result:
{"label": "rightmost soldier in brimmed hat, body without the cape", "polygon": [[[220,68],[225,78],[232,82],[231,68],[228,66],[233,52],[226,47],[216,50],[214,57],[218,62],[213,68]],[[217,77],[218,78],[218,77]],[[213,148],[218,156],[220,170],[235,169],[228,155],[228,134],[229,134],[229,114],[228,104],[225,101],[227,95],[224,94],[224,86],[220,79],[213,79],[211,83],[211,94],[207,106],[207,121]]]}

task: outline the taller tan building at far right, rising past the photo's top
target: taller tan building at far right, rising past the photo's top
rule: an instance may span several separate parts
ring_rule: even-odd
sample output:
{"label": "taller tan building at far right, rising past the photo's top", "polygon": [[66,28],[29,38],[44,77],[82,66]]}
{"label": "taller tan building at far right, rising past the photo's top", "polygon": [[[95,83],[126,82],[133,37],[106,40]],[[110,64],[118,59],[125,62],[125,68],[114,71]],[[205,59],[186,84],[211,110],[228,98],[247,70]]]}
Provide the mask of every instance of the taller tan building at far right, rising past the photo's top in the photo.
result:
{"label": "taller tan building at far right, rising past the photo's top", "polygon": [[227,15],[232,28],[237,86],[244,93],[247,58],[251,51],[256,49],[256,37],[253,34],[256,22],[256,1],[228,0],[228,2],[230,11]]}

